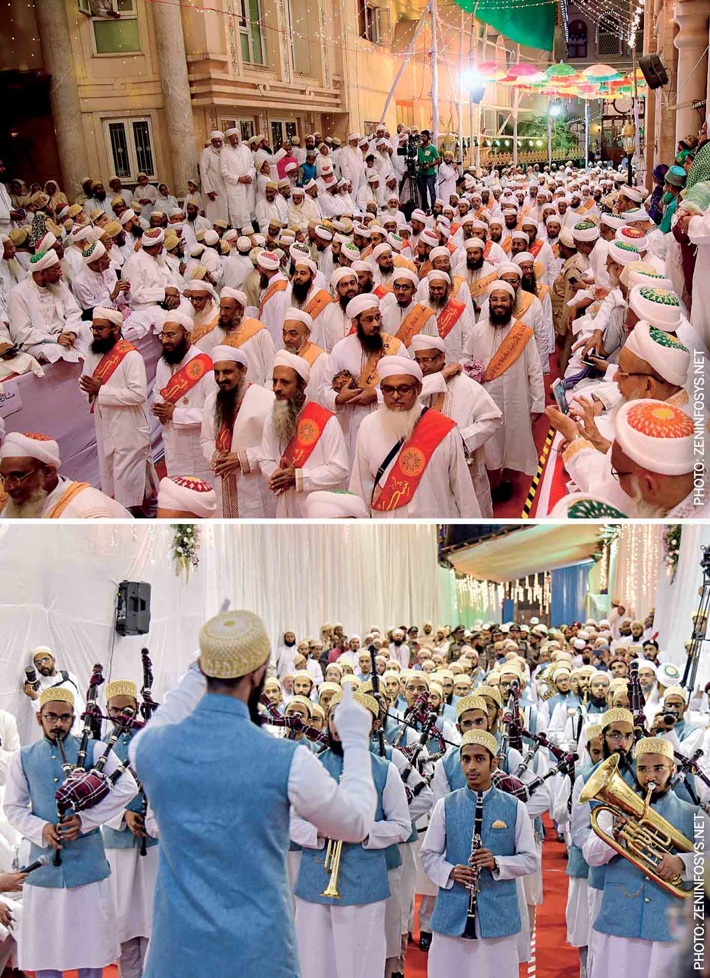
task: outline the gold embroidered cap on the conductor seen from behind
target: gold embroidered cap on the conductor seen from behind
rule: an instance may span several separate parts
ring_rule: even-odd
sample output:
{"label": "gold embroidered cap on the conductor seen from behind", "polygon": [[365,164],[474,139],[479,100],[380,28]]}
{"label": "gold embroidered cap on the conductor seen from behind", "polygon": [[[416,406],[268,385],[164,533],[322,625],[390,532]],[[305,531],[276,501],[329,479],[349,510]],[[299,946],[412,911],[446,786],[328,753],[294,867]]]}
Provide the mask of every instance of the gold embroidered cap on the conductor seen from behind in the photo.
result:
{"label": "gold embroidered cap on the conductor seen from behind", "polygon": [[253,611],[220,611],[200,629],[200,668],[210,679],[246,676],[270,651],[264,624]]}

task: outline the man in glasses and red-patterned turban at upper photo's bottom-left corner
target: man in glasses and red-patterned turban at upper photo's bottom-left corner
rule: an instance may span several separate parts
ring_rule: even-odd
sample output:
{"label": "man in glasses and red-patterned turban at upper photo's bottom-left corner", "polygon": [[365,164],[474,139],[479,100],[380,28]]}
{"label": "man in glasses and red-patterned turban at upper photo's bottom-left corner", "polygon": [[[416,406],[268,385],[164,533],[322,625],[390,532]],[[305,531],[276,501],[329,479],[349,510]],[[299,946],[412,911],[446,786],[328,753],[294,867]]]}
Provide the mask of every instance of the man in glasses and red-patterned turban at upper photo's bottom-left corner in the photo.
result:
{"label": "man in glasses and red-patterned turban at upper photo's bottom-left corner", "polygon": [[60,475],[59,445],[37,432],[11,431],[0,448],[0,480],[9,499],[3,519],[130,519],[120,503]]}

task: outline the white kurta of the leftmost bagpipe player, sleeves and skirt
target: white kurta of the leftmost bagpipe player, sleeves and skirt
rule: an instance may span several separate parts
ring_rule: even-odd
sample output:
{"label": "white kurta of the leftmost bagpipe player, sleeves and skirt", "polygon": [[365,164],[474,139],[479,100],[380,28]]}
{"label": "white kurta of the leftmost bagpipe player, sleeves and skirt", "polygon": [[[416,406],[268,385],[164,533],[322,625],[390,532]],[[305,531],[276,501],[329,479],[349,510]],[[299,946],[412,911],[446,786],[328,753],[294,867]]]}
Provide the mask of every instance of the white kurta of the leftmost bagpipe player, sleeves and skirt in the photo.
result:
{"label": "white kurta of the leftmost bagpipe player, sleeves and skirt", "polygon": [[[105,747],[103,743],[94,744],[94,763]],[[111,753],[106,774],[111,775],[117,766],[118,759]],[[122,812],[137,793],[135,779],[124,772],[103,801],[80,813],[81,830],[87,832],[107,822]],[[47,822],[32,815],[29,808],[29,787],[18,752],[8,773],[5,813],[24,838],[42,846],[42,828]],[[64,889],[31,886],[28,880],[17,940],[19,965],[24,971],[108,967],[118,956],[111,879]]]}

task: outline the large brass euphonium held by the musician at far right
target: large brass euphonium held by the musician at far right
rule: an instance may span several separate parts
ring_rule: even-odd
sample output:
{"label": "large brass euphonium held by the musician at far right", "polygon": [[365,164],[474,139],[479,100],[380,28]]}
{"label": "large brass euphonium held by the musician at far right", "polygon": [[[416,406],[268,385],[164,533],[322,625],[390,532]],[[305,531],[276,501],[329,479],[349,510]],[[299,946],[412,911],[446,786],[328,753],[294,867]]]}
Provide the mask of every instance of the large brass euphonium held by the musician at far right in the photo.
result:
{"label": "large brass euphonium held by the musician at far right", "polygon": [[[621,777],[618,767],[619,755],[612,754],[599,765],[579,796],[582,805],[591,801],[600,803],[592,809],[592,828],[607,846],[651,876],[667,893],[679,900],[687,900],[692,891],[681,888],[680,874],[667,881],[655,870],[665,855],[675,855],[674,849],[682,853],[692,852],[692,842],[650,807],[652,787],[643,801]],[[603,811],[628,820],[618,832],[618,842],[613,835],[599,828],[599,813]]]}

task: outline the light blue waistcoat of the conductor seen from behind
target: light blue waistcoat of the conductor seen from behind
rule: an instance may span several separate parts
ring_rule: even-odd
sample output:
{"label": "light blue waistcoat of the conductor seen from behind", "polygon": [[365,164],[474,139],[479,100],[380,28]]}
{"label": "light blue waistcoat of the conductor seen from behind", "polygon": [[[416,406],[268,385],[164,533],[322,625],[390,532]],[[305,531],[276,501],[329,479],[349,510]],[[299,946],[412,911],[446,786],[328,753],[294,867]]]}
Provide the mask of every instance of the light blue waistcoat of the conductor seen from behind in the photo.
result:
{"label": "light blue waistcoat of the conductor seen from behind", "polygon": [[287,869],[298,749],[213,693],[143,733],[136,770],[160,825],[145,978],[300,973]]}

